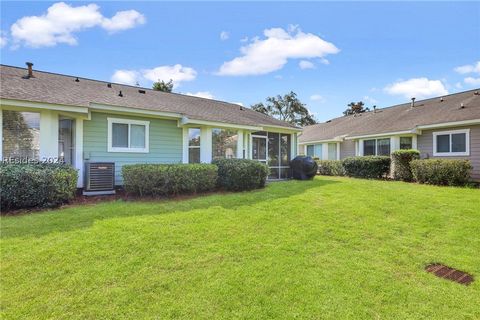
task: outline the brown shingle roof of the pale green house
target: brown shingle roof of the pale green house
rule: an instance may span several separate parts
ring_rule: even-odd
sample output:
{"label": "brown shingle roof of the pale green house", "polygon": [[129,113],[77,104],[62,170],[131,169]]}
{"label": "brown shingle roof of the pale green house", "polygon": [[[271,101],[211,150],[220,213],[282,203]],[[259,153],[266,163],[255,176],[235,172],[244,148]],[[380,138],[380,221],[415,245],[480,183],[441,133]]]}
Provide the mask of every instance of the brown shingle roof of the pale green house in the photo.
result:
{"label": "brown shingle roof of the pale green house", "polygon": [[[296,128],[294,125],[274,119],[237,104],[212,99],[166,93],[122,84],[97,81],[34,70],[34,78],[23,79],[27,71],[0,65],[0,97],[89,107],[90,103],[121,106],[132,109],[179,113],[195,120],[216,121],[248,126],[280,126]],[[139,93],[145,90],[145,94]],[[123,97],[119,97],[119,91]]]}

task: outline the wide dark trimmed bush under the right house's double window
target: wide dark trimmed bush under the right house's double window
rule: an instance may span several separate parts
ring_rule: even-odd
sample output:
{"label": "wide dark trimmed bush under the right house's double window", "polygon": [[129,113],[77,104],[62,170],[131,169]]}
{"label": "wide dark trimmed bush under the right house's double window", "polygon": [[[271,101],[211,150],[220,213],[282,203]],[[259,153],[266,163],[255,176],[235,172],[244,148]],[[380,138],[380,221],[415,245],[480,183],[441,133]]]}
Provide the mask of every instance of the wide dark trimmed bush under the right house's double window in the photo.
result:
{"label": "wide dark trimmed bush under the right house's double window", "polygon": [[349,177],[381,179],[390,172],[390,157],[348,157],[343,160],[343,168]]}

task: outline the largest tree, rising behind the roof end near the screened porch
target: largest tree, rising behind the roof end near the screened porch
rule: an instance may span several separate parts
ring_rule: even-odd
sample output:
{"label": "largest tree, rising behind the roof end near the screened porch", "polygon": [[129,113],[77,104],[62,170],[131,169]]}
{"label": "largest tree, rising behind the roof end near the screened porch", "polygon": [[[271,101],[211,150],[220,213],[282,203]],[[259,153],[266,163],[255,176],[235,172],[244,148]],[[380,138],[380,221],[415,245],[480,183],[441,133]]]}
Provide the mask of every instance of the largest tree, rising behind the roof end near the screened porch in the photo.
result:
{"label": "largest tree, rising behind the roof end near the screened porch", "polygon": [[298,100],[297,94],[293,91],[283,97],[281,95],[268,97],[266,104],[260,102],[252,105],[250,108],[298,126],[316,123],[315,118],[310,114],[306,105]]}

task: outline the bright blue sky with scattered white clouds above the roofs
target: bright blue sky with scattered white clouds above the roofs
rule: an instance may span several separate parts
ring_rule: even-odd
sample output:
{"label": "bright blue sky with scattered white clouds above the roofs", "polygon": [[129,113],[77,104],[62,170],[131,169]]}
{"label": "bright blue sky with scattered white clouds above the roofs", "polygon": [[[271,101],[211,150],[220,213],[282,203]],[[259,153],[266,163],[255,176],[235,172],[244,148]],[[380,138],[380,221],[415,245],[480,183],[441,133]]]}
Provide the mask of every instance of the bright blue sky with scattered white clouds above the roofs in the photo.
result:
{"label": "bright blue sky with scattered white clouds above the roofs", "polygon": [[480,87],[479,2],[2,1],[1,9],[2,64],[146,87],[174,78],[176,92],[245,106],[294,91],[320,121],[350,101],[386,107]]}

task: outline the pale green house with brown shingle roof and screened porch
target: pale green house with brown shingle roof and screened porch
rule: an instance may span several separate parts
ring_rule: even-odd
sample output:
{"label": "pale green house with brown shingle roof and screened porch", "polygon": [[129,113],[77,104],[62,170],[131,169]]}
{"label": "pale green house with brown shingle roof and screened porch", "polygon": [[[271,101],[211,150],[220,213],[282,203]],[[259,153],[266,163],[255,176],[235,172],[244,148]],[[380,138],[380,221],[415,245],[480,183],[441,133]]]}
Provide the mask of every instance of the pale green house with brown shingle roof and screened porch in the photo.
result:
{"label": "pale green house with brown shingle roof and screened porch", "polygon": [[268,163],[270,179],[289,176],[297,133],[291,124],[240,105],[103,81],[0,66],[1,159],[85,162]]}

